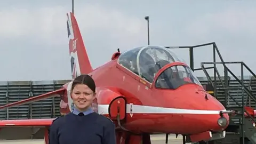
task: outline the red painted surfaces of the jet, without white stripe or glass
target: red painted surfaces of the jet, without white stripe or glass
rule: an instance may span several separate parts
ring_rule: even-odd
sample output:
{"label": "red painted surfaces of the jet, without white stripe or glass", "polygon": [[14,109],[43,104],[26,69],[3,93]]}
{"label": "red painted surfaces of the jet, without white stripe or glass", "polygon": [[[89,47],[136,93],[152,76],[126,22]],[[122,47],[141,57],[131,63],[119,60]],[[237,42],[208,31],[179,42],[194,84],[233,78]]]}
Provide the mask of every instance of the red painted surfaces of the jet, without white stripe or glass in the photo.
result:
{"label": "red painted surfaces of the jet, without white stripe or glass", "polygon": [[[187,66],[182,62],[172,62],[165,65],[158,71],[155,76],[153,84],[142,79],[137,74],[132,73],[123,66],[119,65],[117,59],[120,55],[119,52],[115,52],[111,60],[105,65],[92,69],[89,58],[87,56],[85,46],[83,44],[82,36],[80,34],[77,21],[72,13],[68,15],[71,17],[74,39],[70,39],[69,49],[71,52],[77,52],[78,61],[73,69],[73,77],[77,74],[77,67],[79,64],[80,71],[78,73],[89,74],[93,77],[97,85],[97,99],[95,99],[93,105],[109,105],[113,99],[123,96],[126,99],[126,103],[133,103],[133,105],[140,106],[154,106],[164,108],[179,108],[179,109],[194,109],[194,110],[223,110],[225,109],[221,103],[205,92],[202,86],[196,84],[186,84],[180,86],[176,90],[170,89],[156,89],[154,87],[156,78],[167,68],[172,66]],[[76,41],[74,46],[74,41]],[[188,81],[187,79],[186,81]],[[68,83],[69,84],[69,83]],[[68,84],[63,85],[60,90],[53,91],[39,95],[34,98],[14,102],[9,105],[1,106],[0,109],[8,108],[12,106],[19,106],[25,103],[34,102],[51,97],[61,97],[60,111],[61,114],[67,114],[70,112],[68,106]],[[139,88],[138,88],[139,87]],[[207,95],[208,100],[204,97]],[[125,106],[124,101],[118,104],[114,102],[111,106],[111,117],[116,119],[117,109],[115,107],[121,106],[121,117],[126,116],[126,121],[123,122],[123,126],[135,133],[148,132],[148,133],[177,133],[177,134],[198,134],[207,131],[222,131],[226,127],[220,127],[217,124],[219,114],[161,114],[161,113],[147,113],[147,114],[133,114],[127,113],[124,115],[122,107]],[[97,111],[97,109],[95,109]],[[106,115],[108,116],[108,115]],[[224,114],[229,120],[227,114]],[[0,121],[0,126],[14,123],[16,126],[48,126],[52,122],[52,119],[29,119],[29,120],[17,120],[17,121]],[[124,139],[127,137],[125,132],[117,132],[117,143],[124,143]],[[198,137],[202,137],[198,136]],[[121,141],[121,138],[123,141]],[[138,135],[132,135],[130,142],[140,143],[142,137]],[[143,139],[150,139],[148,135]]]}

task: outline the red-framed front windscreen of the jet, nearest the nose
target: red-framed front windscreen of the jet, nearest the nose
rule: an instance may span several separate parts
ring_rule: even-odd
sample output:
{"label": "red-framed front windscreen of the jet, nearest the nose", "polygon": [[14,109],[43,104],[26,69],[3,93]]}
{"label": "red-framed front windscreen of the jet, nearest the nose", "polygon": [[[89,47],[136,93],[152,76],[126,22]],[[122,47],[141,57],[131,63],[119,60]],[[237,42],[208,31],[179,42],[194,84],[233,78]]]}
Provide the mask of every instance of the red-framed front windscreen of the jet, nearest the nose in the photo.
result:
{"label": "red-framed front windscreen of the jet, nearest the nose", "polygon": [[175,65],[165,69],[163,73],[158,76],[155,87],[174,90],[185,84],[197,84],[202,86],[189,67]]}

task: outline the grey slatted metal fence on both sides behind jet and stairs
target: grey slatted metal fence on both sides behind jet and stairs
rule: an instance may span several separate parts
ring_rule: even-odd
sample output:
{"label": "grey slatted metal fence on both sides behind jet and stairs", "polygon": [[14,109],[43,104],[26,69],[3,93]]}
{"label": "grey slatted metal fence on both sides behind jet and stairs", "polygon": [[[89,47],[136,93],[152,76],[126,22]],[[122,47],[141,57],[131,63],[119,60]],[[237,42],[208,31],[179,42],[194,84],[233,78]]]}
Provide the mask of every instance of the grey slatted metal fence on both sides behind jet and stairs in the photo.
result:
{"label": "grey slatted metal fence on both sides behind jet and stairs", "polygon": [[[206,84],[206,77],[198,77],[202,84]],[[224,79],[224,77],[223,77]],[[218,80],[217,80],[218,81]],[[58,81],[13,81],[0,82],[0,105],[6,105],[15,101],[24,100],[36,95],[41,95],[59,89],[63,84],[70,80]],[[244,76],[244,83],[253,94],[256,95],[256,79],[251,76]],[[220,83],[217,82],[217,87]],[[229,77],[230,86],[238,86],[239,83],[232,77]],[[231,90],[230,94],[239,102],[241,102],[241,90]],[[224,90],[217,91],[218,98],[221,102],[225,101]],[[22,105],[19,107],[11,107],[9,109],[0,110],[0,119],[30,119],[30,118],[53,118],[60,116],[59,110],[60,98],[50,98]],[[228,106],[235,106],[233,100],[228,99]],[[255,107],[254,101],[247,100],[247,106]]]}

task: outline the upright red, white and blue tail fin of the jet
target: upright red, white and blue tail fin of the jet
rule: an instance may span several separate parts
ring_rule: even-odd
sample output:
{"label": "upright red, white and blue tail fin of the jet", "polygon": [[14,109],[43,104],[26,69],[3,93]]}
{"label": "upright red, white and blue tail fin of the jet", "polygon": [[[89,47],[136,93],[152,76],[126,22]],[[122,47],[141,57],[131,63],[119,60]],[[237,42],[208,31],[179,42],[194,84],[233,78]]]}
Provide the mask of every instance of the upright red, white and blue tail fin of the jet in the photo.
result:
{"label": "upright red, white and blue tail fin of the jet", "polygon": [[72,78],[91,73],[93,69],[76,18],[72,12],[67,13],[67,30]]}

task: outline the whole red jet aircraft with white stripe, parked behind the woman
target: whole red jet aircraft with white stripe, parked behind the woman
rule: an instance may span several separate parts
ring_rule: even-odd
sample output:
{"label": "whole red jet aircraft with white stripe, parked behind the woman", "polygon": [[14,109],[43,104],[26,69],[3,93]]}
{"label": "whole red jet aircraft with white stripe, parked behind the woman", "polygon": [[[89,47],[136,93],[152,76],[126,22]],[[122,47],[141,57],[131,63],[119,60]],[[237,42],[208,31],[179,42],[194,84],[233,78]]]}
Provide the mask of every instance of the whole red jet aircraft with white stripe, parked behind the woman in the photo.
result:
{"label": "whole red jet aircraft with white stripe, parked behind the woman", "polygon": [[[115,52],[105,65],[93,69],[74,14],[67,13],[67,30],[73,78],[89,74],[97,85],[93,109],[116,124],[117,144],[150,143],[149,134],[186,135],[187,141],[225,137],[229,116],[225,107],[207,93],[197,77],[172,51],[142,46]],[[72,81],[57,91],[10,103],[0,109],[42,99],[61,97],[60,111],[73,110]],[[45,126],[53,119],[0,121],[0,126]],[[45,143],[47,142],[45,129]],[[214,136],[215,134],[215,136]],[[221,135],[218,136],[218,135]]]}

